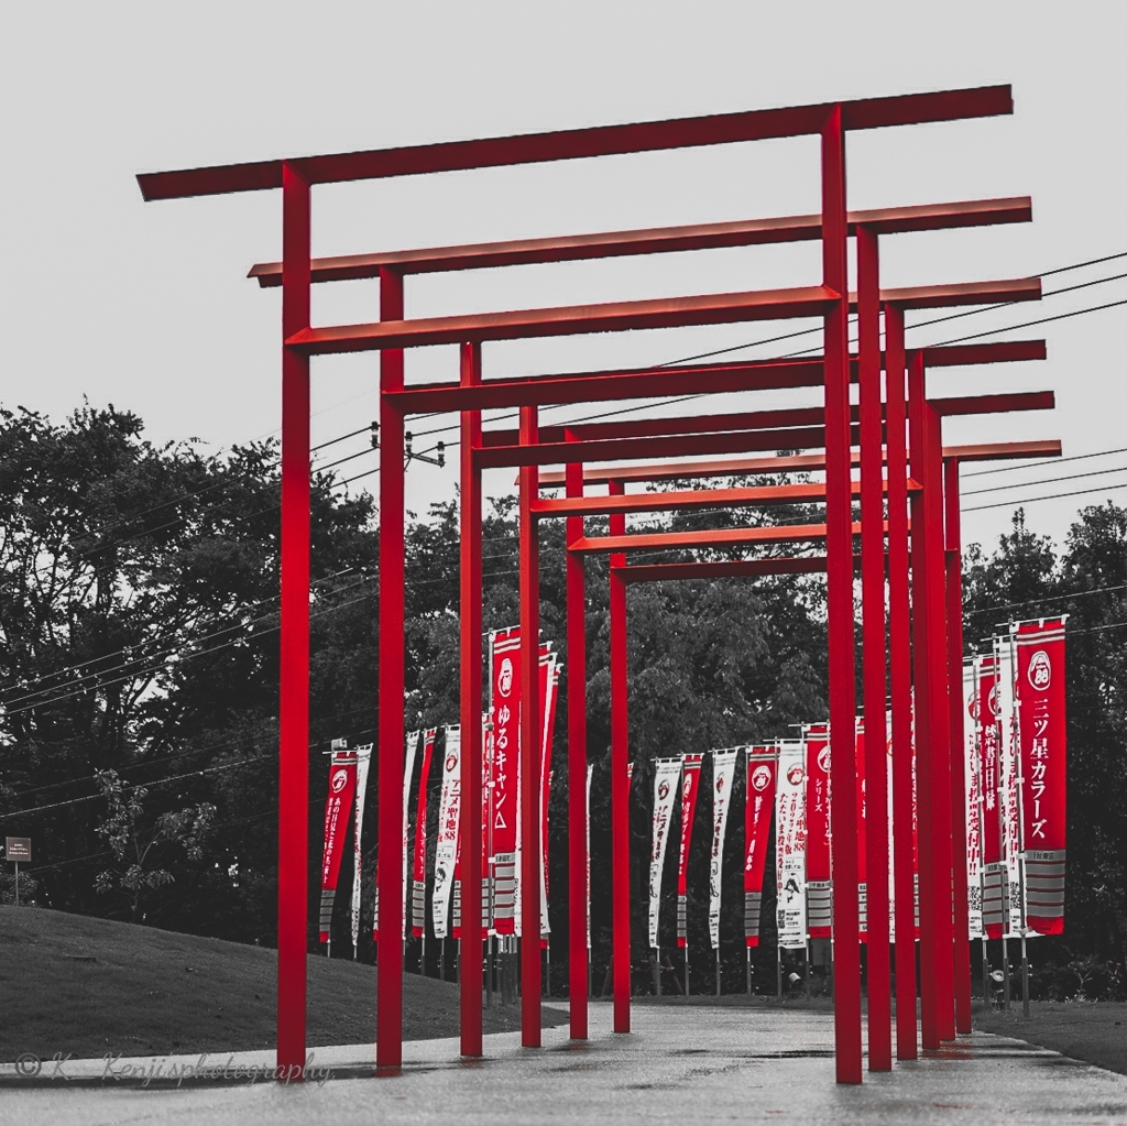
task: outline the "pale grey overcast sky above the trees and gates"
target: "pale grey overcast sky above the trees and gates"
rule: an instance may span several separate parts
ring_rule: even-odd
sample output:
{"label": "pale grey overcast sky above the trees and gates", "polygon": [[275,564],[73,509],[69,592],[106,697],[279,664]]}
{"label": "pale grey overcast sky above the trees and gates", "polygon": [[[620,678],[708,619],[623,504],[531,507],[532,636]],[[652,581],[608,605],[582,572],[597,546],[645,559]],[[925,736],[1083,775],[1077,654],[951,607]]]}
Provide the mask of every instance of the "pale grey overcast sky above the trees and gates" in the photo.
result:
{"label": "pale grey overcast sky above the trees and gates", "polygon": [[[86,396],[137,411],[154,441],[194,437],[220,451],[276,429],[279,293],[246,273],[279,257],[281,193],[145,204],[140,171],[1011,82],[1013,117],[850,135],[853,209],[1033,197],[1032,224],[885,239],[884,283],[1019,277],[1127,251],[1121,5],[228,0],[9,3],[0,20],[0,402],[61,417]],[[313,248],[391,250],[817,207],[817,142],[799,139],[321,187]],[[1120,273],[1127,257],[1048,277],[1046,291]],[[749,248],[410,278],[407,311],[817,281],[814,245]],[[922,328],[909,344],[1120,299],[1127,281]],[[376,300],[375,283],[320,286],[313,319],[372,320]],[[1127,446],[1115,343],[1125,323],[1127,305],[1017,330],[1044,334],[1049,361],[937,372],[935,394],[1057,392],[1055,414],[956,419],[947,440],[1061,437],[1066,455]],[[486,374],[665,362],[798,327],[494,344]],[[376,370],[374,354],[314,361],[314,443],[375,417]],[[455,372],[453,348],[409,357],[408,379]],[[363,447],[363,437],[341,442],[322,460]],[[373,459],[341,469],[360,473]],[[965,490],[1120,464],[1127,453],[968,479]],[[412,464],[411,507],[450,496],[453,481],[452,468]],[[496,475],[489,487],[511,481]],[[1107,486],[1029,505],[1030,525],[1061,538],[1080,504],[1127,499],[1120,482],[1127,469],[967,496],[965,506]],[[1011,512],[967,513],[967,539],[993,542]]]}

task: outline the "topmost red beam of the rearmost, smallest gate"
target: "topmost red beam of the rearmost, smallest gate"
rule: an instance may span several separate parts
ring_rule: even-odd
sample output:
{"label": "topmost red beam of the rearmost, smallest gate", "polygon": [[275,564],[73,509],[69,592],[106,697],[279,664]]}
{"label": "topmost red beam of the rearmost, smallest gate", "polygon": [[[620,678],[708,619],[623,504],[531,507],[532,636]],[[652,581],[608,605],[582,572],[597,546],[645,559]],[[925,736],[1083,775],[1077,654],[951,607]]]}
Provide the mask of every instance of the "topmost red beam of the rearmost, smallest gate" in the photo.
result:
{"label": "topmost red beam of the rearmost, smallest gate", "polygon": [[[984,445],[946,445],[943,458],[959,461],[1019,461],[1027,458],[1059,458],[1057,440],[1040,442],[993,442]],[[859,454],[852,454],[857,464]],[[733,458],[730,461],[681,461],[650,466],[601,466],[585,469],[585,485],[607,481],[672,481],[698,477],[744,477],[753,473],[811,473],[826,468],[822,453],[793,454],[786,458]],[[540,473],[541,488],[564,485],[564,473]]]}

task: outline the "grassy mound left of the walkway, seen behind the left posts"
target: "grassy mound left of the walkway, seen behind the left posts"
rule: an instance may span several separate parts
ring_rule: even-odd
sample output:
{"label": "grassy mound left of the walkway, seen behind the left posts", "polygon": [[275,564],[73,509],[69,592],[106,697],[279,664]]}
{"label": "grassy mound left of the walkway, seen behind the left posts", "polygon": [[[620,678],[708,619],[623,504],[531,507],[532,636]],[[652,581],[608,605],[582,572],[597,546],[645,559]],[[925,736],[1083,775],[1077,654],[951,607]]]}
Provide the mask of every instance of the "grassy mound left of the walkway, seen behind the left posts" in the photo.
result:
{"label": "grassy mound left of the walkway, seen behind the left posts", "polygon": [[[274,950],[149,926],[0,907],[0,1059],[267,1048],[274,1043]],[[488,1010],[487,1032],[518,1027]],[[543,1010],[545,1026],[566,1016]],[[403,977],[403,1036],[456,1036],[458,987]],[[375,970],[309,959],[309,1044],[375,1040]]]}

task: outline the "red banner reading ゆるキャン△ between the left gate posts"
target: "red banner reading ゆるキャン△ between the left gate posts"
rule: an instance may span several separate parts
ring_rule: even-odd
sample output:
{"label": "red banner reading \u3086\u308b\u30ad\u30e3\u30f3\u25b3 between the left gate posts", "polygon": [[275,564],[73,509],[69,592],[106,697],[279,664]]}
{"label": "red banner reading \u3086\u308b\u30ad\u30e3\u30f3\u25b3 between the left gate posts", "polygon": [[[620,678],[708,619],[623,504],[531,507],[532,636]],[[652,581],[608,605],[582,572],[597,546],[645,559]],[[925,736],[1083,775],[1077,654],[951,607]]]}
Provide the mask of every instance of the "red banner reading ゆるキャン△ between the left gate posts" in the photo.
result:
{"label": "red banner reading \u3086\u308b\u30ad\u30e3\u30f3\u25b3 between the left gate posts", "polygon": [[518,747],[521,742],[521,677],[517,657],[520,628],[499,630],[489,639],[489,708],[492,756],[489,791],[490,865],[496,881],[495,921],[498,934],[516,930],[516,826]]}

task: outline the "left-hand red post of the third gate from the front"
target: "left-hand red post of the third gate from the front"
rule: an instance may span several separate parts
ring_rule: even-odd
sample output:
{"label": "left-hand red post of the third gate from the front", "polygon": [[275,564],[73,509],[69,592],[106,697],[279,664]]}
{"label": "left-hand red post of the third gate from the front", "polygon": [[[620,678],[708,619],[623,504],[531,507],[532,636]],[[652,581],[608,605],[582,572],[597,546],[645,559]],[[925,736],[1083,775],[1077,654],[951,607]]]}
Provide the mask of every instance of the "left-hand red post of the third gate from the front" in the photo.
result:
{"label": "left-hand red post of the third gate from the front", "polygon": [[[481,345],[463,344],[461,384],[481,382]],[[460,615],[461,615],[461,804],[462,939],[459,982],[462,1055],[481,1055],[481,411],[461,415]]]}

